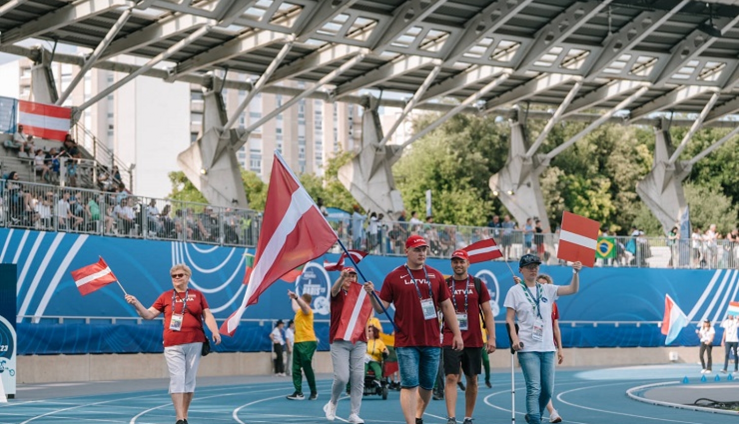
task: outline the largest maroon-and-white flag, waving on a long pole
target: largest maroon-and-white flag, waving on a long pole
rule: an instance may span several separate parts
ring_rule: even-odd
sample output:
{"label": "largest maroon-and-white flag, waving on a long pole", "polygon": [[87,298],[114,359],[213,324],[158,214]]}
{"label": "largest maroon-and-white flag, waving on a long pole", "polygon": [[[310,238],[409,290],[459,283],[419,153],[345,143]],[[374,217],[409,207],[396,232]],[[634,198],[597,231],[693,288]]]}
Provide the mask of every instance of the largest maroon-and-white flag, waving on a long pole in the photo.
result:
{"label": "largest maroon-and-white flag, waving on a long pole", "polygon": [[336,243],[336,232],[275,152],[264,221],[256,244],[254,266],[239,309],[225,320],[221,334],[233,335],[247,306],[259,300],[280,277],[323,255]]}

